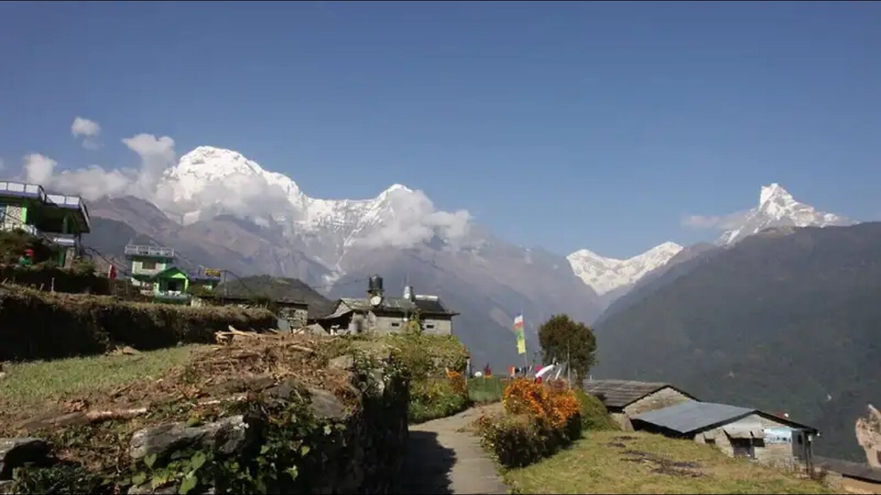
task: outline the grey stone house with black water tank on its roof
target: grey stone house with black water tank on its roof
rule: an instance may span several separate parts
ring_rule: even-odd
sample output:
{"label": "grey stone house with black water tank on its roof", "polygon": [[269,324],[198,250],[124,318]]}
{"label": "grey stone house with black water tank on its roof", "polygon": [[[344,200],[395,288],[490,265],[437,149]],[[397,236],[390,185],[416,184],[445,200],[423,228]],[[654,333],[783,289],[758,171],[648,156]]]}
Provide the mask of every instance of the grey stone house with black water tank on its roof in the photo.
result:
{"label": "grey stone house with black water tank on its roof", "polygon": [[333,311],[318,318],[329,334],[389,334],[403,331],[407,321],[418,314],[423,331],[433,335],[452,335],[453,316],[438,296],[413,292],[404,287],[403,297],[386,296],[382,290],[382,277],[370,277],[367,298],[343,298],[337,300]]}

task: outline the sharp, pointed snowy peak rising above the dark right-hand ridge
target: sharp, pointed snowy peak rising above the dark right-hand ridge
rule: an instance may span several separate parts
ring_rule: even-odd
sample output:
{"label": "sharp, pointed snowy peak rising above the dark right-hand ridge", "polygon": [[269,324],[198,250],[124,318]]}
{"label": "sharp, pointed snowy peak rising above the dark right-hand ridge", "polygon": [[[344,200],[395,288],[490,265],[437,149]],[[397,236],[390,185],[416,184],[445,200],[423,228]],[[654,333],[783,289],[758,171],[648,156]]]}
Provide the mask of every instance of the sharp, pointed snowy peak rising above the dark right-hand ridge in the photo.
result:
{"label": "sharp, pointed snowy peak rising above the dark right-hand ridge", "polygon": [[720,246],[730,246],[748,235],[769,227],[806,227],[852,225],[853,221],[833,213],[816,211],[809,204],[798,203],[780,184],[764,186],[759,194],[759,206],[751,209],[736,227],[725,231],[716,240]]}

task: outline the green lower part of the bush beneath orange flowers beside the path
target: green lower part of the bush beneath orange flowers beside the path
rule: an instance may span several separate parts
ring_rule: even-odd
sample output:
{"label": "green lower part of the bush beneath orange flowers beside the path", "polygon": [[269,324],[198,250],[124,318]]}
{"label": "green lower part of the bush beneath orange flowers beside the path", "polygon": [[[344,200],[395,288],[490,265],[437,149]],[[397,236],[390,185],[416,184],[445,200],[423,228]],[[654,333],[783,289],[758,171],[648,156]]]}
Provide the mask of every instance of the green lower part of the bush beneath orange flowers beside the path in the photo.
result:
{"label": "green lower part of the bush beneath orange flowers beside the path", "polygon": [[555,454],[581,438],[581,418],[575,415],[562,428],[531,415],[500,415],[478,419],[480,443],[506,468],[522,468]]}

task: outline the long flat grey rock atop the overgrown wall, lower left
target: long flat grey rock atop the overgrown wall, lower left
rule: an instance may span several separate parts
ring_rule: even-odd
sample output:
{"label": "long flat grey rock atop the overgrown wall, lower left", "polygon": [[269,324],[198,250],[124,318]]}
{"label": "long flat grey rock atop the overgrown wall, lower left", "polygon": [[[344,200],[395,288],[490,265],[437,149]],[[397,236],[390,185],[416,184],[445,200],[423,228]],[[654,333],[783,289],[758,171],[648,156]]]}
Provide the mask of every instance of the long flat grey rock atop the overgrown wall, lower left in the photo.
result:
{"label": "long flat grey rock atop the overgrown wall, lower left", "polygon": [[135,432],[131,436],[129,455],[141,459],[155,454],[162,458],[186,447],[201,447],[218,454],[233,454],[248,443],[248,423],[244,417],[224,417],[201,426],[170,423]]}

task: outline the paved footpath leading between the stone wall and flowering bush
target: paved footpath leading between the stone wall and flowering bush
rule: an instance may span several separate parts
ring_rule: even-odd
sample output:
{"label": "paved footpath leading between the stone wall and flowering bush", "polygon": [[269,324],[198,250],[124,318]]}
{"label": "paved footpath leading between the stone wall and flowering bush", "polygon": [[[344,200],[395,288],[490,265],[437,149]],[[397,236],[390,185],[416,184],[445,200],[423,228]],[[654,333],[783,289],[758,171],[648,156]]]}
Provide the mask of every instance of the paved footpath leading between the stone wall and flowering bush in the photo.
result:
{"label": "paved footpath leading between the stone wall and flowering bush", "polygon": [[465,410],[455,416],[411,425],[403,462],[401,493],[507,493],[496,465],[477,437],[460,432],[482,411],[500,404]]}

